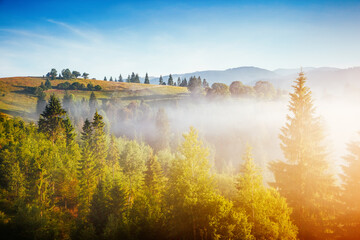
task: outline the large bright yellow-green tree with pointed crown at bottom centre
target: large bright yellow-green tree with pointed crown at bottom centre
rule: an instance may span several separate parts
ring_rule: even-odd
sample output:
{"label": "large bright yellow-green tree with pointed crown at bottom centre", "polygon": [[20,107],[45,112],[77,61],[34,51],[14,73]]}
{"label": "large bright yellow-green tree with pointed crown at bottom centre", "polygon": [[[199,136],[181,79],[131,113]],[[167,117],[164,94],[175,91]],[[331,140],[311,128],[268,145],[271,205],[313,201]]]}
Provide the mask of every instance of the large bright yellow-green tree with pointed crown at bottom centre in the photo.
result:
{"label": "large bright yellow-green tree with pointed crown at bottom centre", "polygon": [[215,192],[209,153],[195,129],[183,136],[166,192],[171,238],[252,239],[245,215]]}

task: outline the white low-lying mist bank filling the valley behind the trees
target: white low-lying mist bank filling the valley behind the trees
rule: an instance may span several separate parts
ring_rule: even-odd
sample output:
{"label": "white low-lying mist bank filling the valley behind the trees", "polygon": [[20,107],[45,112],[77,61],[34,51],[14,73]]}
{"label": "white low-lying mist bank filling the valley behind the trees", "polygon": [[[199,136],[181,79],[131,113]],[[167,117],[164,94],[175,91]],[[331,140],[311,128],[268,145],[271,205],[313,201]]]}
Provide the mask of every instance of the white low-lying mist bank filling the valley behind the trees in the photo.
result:
{"label": "white low-lying mist bank filling the valley behind the trees", "polygon": [[[328,160],[334,173],[341,172],[347,143],[356,139],[360,130],[359,97],[324,94],[318,88],[313,91],[315,116],[322,119]],[[96,109],[104,116],[110,133],[116,136],[136,138],[150,144],[155,150],[161,135],[173,151],[182,140],[182,133],[195,127],[210,148],[211,163],[219,172],[236,173],[242,155],[249,144],[253,148],[256,163],[262,169],[264,181],[272,179],[268,163],[283,159],[280,148],[280,129],[289,113],[289,96],[277,100],[245,98],[195,98],[181,100],[132,101],[121,98],[97,100]],[[78,131],[93,112],[88,100],[74,100],[64,106]],[[90,106],[90,107],[89,107]],[[159,110],[163,115],[159,119]],[[164,132],[164,133],[162,133]]]}

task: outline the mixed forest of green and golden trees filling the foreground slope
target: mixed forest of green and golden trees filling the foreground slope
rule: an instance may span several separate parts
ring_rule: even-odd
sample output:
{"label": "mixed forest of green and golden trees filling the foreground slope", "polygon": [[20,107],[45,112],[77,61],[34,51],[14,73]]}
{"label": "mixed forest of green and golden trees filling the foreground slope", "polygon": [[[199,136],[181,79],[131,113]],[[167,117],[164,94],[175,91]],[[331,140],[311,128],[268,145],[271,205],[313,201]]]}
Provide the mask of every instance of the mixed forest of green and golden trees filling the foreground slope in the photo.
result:
{"label": "mixed forest of green and golden trees filling the foreground slope", "polygon": [[[330,170],[324,126],[302,72],[290,93],[288,115],[282,116],[283,127],[274,130],[280,134],[284,158],[269,159],[265,168],[253,155],[258,146],[246,145],[240,138],[231,139],[244,149],[233,156],[238,158],[237,166],[229,169],[230,165],[220,164],[216,154],[214,161],[221,144],[204,141],[209,136],[194,127],[174,137],[165,109],[204,101],[221,106],[230,95],[241,100],[235,106],[249,104],[249,98],[252,104],[282,98],[268,84],[255,85],[253,95],[249,86],[239,83],[231,91],[221,84],[207,89],[190,85],[187,101],[132,100],[120,108],[114,107],[119,103],[115,98],[100,105],[97,94],[108,94],[106,85],[100,91],[80,90],[90,95],[80,101],[74,100],[79,90],[62,95],[45,85],[47,89],[29,93],[38,95],[38,113],[32,113],[38,116],[36,122],[0,117],[4,239],[354,239],[360,235],[356,204],[360,199],[354,191],[359,188],[360,145],[349,145],[340,185],[338,175]],[[251,134],[243,138],[247,136]],[[264,170],[273,174],[271,181],[264,181]]]}

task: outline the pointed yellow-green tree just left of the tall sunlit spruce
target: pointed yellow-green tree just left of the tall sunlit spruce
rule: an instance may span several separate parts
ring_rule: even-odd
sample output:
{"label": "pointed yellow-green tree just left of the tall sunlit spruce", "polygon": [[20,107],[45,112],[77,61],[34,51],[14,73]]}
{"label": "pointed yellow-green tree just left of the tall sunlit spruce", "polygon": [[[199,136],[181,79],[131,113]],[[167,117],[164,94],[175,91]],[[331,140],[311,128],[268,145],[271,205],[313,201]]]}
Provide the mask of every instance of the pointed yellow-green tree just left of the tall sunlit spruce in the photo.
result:
{"label": "pointed yellow-green tree just left of the tall sunlit spruce", "polygon": [[296,239],[297,228],[290,220],[291,210],[274,189],[266,189],[254,164],[251,149],[243,157],[238,177],[236,206],[245,209],[252,223],[251,234],[256,239]]}

